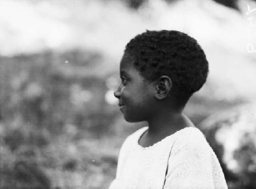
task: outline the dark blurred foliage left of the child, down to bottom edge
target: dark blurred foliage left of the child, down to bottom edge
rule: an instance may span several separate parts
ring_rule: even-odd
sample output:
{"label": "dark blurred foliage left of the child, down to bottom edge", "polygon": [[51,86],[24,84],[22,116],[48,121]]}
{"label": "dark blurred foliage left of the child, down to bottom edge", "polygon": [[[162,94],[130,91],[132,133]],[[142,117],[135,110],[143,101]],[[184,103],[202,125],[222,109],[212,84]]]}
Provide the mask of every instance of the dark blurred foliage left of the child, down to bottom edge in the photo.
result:
{"label": "dark blurred foliage left of the child, down to bottom edge", "polygon": [[90,72],[101,56],[72,50],[0,61],[0,187],[108,187],[122,138],[119,146],[103,138],[115,134],[118,109],[105,102],[106,78]]}

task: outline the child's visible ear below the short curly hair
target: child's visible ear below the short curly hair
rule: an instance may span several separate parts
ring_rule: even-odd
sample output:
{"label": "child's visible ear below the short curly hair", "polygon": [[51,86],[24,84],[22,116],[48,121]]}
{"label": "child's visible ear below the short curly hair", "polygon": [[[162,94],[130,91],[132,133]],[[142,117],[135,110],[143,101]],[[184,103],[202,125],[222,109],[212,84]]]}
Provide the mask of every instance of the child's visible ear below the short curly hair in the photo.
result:
{"label": "child's visible ear below the short curly hair", "polygon": [[173,82],[168,76],[161,76],[156,81],[155,98],[163,100],[169,97],[170,89],[173,87]]}

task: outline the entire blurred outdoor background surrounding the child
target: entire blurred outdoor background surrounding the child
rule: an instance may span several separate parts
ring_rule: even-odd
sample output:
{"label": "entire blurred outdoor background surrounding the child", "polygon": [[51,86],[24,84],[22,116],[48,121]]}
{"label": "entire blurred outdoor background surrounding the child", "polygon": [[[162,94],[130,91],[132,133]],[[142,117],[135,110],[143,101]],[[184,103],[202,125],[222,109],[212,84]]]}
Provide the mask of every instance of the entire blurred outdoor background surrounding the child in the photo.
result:
{"label": "entire blurred outdoor background surrounding the child", "polygon": [[0,188],[108,188],[124,139],[113,96],[124,46],[193,36],[209,77],[185,113],[229,188],[256,188],[256,1],[0,1]]}

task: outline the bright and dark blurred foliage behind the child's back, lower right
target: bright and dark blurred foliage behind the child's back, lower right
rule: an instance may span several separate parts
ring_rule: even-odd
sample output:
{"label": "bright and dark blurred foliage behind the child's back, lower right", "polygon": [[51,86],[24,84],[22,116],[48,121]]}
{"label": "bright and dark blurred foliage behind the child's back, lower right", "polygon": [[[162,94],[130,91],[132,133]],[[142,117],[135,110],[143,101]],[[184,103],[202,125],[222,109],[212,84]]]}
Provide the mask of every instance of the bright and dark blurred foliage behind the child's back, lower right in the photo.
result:
{"label": "bright and dark blurred foliage behind the child's back, lower right", "polygon": [[212,114],[200,128],[220,160],[228,188],[256,188],[256,105]]}

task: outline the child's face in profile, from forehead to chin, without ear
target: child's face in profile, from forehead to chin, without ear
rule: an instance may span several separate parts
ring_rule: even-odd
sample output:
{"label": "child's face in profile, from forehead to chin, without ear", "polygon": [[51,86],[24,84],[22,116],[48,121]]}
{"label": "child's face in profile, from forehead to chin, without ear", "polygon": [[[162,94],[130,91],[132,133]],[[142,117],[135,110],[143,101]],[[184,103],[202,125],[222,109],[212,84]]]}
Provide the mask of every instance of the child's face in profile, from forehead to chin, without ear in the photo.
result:
{"label": "child's face in profile, from forehead to chin, without ear", "polygon": [[146,84],[134,60],[125,53],[120,62],[121,83],[114,92],[119,99],[119,107],[127,122],[146,121],[154,110],[153,86]]}

